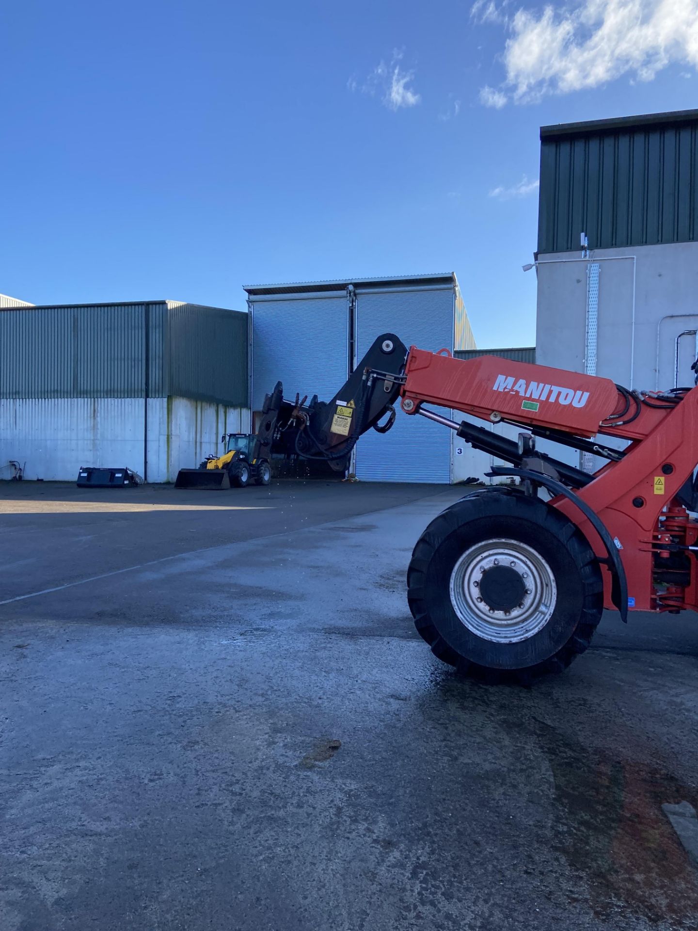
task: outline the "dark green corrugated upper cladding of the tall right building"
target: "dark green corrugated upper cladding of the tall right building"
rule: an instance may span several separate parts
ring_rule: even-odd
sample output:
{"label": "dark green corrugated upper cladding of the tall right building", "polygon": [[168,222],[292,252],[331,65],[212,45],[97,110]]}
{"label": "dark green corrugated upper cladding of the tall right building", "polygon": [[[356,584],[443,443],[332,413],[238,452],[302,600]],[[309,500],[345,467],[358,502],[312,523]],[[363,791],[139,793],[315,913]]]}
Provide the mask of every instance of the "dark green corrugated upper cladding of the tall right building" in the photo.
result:
{"label": "dark green corrugated upper cladding of the tall right building", "polygon": [[542,130],[538,251],[698,239],[698,120]]}

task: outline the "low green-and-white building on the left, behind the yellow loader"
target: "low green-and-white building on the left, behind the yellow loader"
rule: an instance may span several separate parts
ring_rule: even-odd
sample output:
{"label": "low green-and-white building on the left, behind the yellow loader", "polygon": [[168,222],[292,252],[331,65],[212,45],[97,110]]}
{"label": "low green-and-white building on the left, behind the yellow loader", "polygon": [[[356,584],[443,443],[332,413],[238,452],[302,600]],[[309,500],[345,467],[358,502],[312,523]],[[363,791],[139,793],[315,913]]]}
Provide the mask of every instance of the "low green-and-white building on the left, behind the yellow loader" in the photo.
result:
{"label": "low green-and-white building on the left, behind the yellow loader", "polygon": [[249,429],[248,314],[178,301],[0,307],[0,479],[174,479]]}

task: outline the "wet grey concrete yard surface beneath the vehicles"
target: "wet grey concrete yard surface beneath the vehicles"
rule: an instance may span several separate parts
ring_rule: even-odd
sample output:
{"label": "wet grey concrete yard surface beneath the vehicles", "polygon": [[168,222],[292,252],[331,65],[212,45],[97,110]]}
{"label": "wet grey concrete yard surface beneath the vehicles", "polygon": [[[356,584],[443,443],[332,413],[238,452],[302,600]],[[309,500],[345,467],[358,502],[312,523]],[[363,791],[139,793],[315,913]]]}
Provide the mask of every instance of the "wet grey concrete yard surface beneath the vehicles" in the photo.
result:
{"label": "wet grey concrete yard surface beneath the vehicles", "polygon": [[405,570],[461,493],[2,488],[3,931],[695,928],[696,618],[460,680]]}

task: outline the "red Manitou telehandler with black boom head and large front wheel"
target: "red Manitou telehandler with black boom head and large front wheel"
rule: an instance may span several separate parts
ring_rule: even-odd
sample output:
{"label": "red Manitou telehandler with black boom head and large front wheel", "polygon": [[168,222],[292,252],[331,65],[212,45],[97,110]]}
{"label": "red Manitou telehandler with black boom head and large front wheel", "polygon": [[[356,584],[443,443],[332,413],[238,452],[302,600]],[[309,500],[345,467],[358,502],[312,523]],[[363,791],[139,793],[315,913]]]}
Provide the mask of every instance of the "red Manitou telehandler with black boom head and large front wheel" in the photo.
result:
{"label": "red Manitou telehandler with black boom head and large front wheel", "polygon": [[[688,513],[698,510],[698,387],[632,391],[572,371],[408,349],[383,333],[329,403],[283,400],[276,385],[262,441],[342,470],[361,434],[390,429],[398,399],[409,416],[511,464],[493,466],[488,475],[504,483],[448,507],[414,547],[409,608],[440,659],[526,682],[584,653],[604,608],[623,621],[633,611],[698,610],[698,522]],[[514,442],[430,404],[522,432]],[[570,466],[537,452],[536,438],[606,463]]]}

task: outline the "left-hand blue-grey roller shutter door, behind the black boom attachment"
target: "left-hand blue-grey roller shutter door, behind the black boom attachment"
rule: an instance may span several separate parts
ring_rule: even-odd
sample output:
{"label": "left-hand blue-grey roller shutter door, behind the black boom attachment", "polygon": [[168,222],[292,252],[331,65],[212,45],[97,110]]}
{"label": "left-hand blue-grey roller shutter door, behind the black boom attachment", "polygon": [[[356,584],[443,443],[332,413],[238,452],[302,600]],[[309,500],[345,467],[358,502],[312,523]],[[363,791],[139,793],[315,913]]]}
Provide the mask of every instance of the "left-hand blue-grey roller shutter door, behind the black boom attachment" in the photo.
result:
{"label": "left-hand blue-grey roller shutter door, behind the black boom attachment", "polygon": [[252,310],[252,410],[277,381],[284,396],[296,392],[329,401],[348,370],[347,302],[342,297],[255,301]]}

